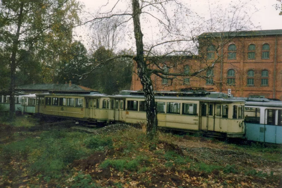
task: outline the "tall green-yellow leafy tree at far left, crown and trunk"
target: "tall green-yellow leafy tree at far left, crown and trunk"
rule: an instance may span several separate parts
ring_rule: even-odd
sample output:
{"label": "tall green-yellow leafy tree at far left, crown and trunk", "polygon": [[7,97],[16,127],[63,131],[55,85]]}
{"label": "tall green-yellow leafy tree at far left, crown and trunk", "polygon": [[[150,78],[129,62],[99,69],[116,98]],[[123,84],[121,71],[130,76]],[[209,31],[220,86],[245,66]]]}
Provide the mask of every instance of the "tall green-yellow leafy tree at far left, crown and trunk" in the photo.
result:
{"label": "tall green-yellow leafy tree at far left, crown and trunk", "polygon": [[[79,23],[81,6],[75,0],[2,0],[0,3],[0,42],[10,67],[10,116],[15,112],[14,88],[21,50],[35,53],[50,66],[57,54],[47,56],[46,49],[62,50],[71,43],[72,28]],[[49,50],[49,52],[52,50]],[[49,58],[49,61],[46,59]],[[46,63],[47,62],[47,63]]]}

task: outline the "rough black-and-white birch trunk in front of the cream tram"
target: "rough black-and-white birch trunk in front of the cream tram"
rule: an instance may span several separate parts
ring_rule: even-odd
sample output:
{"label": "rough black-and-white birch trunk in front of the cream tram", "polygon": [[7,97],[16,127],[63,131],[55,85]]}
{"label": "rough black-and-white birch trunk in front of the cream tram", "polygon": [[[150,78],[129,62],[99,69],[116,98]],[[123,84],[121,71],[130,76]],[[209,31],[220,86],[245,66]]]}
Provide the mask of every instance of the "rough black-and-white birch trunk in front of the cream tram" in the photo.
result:
{"label": "rough black-and-white birch trunk in front of the cream tram", "polygon": [[155,136],[158,128],[157,108],[155,103],[155,95],[153,91],[151,74],[147,69],[146,60],[144,60],[143,34],[140,25],[141,10],[139,0],[132,0],[132,14],[134,36],[136,40],[136,57],[134,58],[134,60],[137,63],[137,74],[140,78],[145,95],[145,105],[147,108],[147,135],[152,139]]}

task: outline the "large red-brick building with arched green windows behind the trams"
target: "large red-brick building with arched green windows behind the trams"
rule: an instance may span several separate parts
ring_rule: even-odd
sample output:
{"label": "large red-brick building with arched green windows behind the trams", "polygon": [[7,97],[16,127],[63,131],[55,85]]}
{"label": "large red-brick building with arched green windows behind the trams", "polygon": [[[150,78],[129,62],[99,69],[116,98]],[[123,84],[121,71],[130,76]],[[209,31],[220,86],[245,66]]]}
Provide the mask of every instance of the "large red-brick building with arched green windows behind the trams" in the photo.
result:
{"label": "large red-brick building with arched green windows behind the trams", "polygon": [[[225,36],[229,38],[223,48],[214,50],[209,45],[205,51],[206,61],[199,57],[186,57],[179,67],[169,72],[194,72],[208,62],[218,59],[214,69],[202,72],[199,77],[175,77],[172,82],[152,75],[154,90],[170,91],[188,87],[203,87],[210,91],[227,93],[235,97],[265,97],[282,100],[282,29],[244,31],[237,33],[203,33],[200,39]],[[200,41],[201,44],[201,41]],[[169,62],[168,62],[169,63]],[[136,69],[136,66],[134,67]],[[132,76],[131,90],[141,90],[136,74]]]}

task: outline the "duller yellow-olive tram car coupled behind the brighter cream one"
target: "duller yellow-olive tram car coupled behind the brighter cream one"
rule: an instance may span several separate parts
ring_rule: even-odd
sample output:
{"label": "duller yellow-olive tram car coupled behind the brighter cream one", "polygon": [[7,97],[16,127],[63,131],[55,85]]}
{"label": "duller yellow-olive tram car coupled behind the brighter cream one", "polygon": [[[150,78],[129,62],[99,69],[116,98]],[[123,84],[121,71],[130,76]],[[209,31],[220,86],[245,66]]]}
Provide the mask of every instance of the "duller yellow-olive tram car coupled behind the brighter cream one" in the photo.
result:
{"label": "duller yellow-olive tram car coupled behind the brighter cream one", "polygon": [[109,97],[97,91],[50,91],[36,94],[35,113],[83,121],[107,122]]}

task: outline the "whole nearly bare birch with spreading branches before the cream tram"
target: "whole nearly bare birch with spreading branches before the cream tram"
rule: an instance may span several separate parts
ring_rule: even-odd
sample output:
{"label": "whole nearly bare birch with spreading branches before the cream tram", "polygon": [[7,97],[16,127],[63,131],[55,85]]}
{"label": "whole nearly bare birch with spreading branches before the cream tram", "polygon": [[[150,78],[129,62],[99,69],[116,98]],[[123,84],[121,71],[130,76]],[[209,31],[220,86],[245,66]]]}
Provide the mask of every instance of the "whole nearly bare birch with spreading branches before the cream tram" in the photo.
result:
{"label": "whole nearly bare birch with spreading branches before the cream tram", "polygon": [[[125,9],[119,10],[118,5],[122,3]],[[147,134],[150,137],[155,135],[158,127],[157,109],[151,75],[155,74],[163,79],[169,79],[171,82],[179,76],[201,76],[201,73],[208,69],[213,69],[215,64],[220,62],[220,50],[234,36],[222,36],[219,38],[217,36],[209,36],[209,40],[203,40],[205,37],[202,35],[204,38],[201,38],[201,36],[198,37],[198,35],[203,31],[219,31],[219,29],[227,30],[228,28],[230,33],[236,33],[245,29],[242,23],[246,19],[240,20],[243,15],[242,10],[245,6],[244,4],[233,6],[233,15],[231,11],[225,12],[228,14],[228,20],[233,21],[219,28],[215,27],[215,25],[217,26],[222,23],[217,23],[212,17],[209,20],[201,20],[197,14],[189,10],[180,0],[116,0],[115,4],[106,10],[108,6],[109,1],[86,23],[97,24],[107,19],[122,17],[122,21],[117,23],[116,26],[125,25],[129,28],[128,30],[131,31],[127,33],[127,35],[129,37],[134,35],[136,55],[121,55],[109,58],[108,60],[95,62],[97,66],[93,67],[89,72],[84,73],[82,77],[114,58],[132,58],[136,62],[137,74],[143,86],[147,109]],[[210,25],[209,28],[211,29],[203,29],[205,25]],[[143,42],[143,32],[147,31],[144,29],[146,27],[154,30],[154,32],[152,32],[152,37],[145,35],[146,42]],[[156,28],[158,28],[158,30]],[[215,46],[214,50],[218,56],[212,61],[207,61],[203,53],[207,51],[207,46],[211,44]],[[197,58],[203,61],[206,60],[205,67],[193,72],[170,71],[177,69],[180,64],[185,63],[185,57],[197,53],[199,53]],[[168,56],[173,58],[169,59],[167,58]]]}

